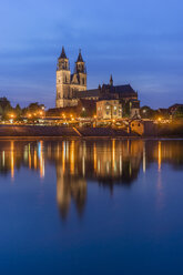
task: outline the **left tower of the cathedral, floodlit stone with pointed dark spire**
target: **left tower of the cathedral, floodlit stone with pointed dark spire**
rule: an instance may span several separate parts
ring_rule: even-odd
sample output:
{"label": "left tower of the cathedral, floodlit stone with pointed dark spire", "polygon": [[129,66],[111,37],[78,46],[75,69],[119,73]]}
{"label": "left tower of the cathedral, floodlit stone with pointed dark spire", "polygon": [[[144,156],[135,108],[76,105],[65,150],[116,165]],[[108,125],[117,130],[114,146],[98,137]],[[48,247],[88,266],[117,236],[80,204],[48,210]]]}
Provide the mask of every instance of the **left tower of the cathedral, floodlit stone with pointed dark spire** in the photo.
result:
{"label": "left tower of the cathedral, floodlit stone with pointed dark spire", "polygon": [[57,108],[64,108],[69,105],[70,100],[70,82],[71,71],[69,65],[69,59],[67,58],[64,48],[58,59],[57,67]]}

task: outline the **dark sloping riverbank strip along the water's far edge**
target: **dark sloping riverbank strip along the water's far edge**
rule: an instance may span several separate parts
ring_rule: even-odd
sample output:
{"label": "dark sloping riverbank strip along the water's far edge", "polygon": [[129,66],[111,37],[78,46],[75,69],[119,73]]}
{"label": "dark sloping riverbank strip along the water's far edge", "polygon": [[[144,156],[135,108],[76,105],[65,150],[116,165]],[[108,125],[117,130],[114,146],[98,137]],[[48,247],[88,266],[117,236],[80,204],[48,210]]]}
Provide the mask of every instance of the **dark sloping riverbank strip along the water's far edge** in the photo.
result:
{"label": "dark sloping riverbank strip along the water's far edge", "polygon": [[182,139],[182,124],[159,125],[151,135],[112,128],[0,125],[0,139]]}

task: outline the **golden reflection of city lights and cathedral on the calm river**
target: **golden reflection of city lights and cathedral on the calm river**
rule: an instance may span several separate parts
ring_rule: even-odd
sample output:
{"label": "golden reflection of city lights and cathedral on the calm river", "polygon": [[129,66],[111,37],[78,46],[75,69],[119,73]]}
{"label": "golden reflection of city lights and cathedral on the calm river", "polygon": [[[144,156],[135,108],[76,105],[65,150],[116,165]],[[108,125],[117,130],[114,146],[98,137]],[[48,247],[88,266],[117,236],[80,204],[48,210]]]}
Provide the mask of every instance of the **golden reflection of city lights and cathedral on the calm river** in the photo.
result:
{"label": "golden reflection of city lights and cathedral on the calm river", "polygon": [[[81,215],[87,203],[88,182],[111,191],[114,185],[131,186],[151,163],[183,167],[182,141],[0,141],[0,176],[16,177],[21,167],[38,171],[43,180],[47,165],[57,172],[57,202],[63,218],[73,203]],[[161,190],[159,175],[157,190]]]}

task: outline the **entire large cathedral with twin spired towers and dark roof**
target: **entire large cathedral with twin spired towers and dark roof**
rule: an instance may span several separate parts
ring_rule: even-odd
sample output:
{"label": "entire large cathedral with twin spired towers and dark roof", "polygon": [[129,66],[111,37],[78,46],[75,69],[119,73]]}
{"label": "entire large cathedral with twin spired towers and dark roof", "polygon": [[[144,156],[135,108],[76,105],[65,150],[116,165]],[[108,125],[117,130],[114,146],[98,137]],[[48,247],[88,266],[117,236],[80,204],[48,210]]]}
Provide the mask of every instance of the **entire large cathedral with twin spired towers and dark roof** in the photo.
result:
{"label": "entire large cathedral with twin spired towers and dark roof", "polygon": [[[58,59],[57,68],[57,109],[73,108],[77,106],[80,101],[92,101],[95,104],[99,101],[105,101],[105,103],[99,103],[99,108],[102,110],[106,102],[111,101],[109,105],[118,108],[116,116],[133,116],[139,114],[140,101],[138,100],[138,92],[135,92],[130,84],[114,85],[112,75],[109,84],[99,85],[98,89],[87,90],[87,69],[85,62],[79,52],[74,73],[71,74],[69,59],[67,58],[64,48]],[[116,102],[118,101],[118,102]],[[115,102],[115,103],[114,103]],[[113,105],[114,104],[114,105]],[[122,108],[121,108],[121,106]],[[95,110],[96,111],[96,110]],[[105,110],[106,111],[106,110]],[[115,111],[112,113],[112,116]],[[102,116],[102,114],[99,114]],[[104,116],[110,116],[108,112],[104,112]]]}

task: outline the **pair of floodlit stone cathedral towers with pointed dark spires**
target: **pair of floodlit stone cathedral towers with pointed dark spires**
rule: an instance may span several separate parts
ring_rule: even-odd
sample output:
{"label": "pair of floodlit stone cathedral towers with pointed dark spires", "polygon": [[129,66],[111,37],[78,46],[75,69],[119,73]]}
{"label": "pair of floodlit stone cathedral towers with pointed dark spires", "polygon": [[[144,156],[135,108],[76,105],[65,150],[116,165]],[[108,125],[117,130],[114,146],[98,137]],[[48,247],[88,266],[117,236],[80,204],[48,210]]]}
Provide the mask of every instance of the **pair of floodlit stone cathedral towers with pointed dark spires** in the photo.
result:
{"label": "pair of floodlit stone cathedral towers with pointed dark spires", "polygon": [[57,108],[78,105],[78,99],[74,96],[75,91],[87,90],[87,69],[79,51],[75,62],[74,73],[71,74],[69,59],[67,58],[64,48],[58,59],[57,67]]}

